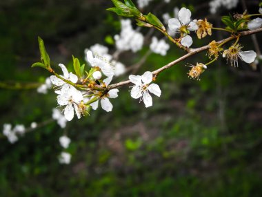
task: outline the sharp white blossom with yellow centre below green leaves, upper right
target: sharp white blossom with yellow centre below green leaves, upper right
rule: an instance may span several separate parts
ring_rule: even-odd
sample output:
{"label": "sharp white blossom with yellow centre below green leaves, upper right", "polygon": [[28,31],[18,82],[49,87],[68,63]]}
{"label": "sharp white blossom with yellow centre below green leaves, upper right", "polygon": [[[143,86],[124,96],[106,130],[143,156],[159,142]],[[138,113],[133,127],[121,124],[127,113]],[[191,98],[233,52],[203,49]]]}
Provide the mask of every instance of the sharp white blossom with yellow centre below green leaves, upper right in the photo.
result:
{"label": "sharp white blossom with yellow centre below green leaves, upper right", "polygon": [[[181,44],[186,47],[192,45],[192,38],[190,35],[185,34],[185,30],[195,31],[199,26],[196,24],[196,20],[191,21],[191,12],[187,8],[181,8],[179,10],[179,16],[168,20],[168,27],[170,30],[182,32],[184,37],[181,39]],[[191,39],[190,39],[191,38]]]}

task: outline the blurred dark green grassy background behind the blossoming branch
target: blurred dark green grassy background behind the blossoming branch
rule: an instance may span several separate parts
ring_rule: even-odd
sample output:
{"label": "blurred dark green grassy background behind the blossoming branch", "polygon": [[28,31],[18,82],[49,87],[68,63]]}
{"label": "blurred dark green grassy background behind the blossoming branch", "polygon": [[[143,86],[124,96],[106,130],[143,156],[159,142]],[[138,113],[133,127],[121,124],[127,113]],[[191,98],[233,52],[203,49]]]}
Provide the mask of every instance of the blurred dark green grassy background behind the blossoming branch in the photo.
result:
{"label": "blurred dark green grassy background behind the blossoming branch", "polygon": [[[136,1],[134,1],[136,2]],[[246,1],[257,12],[259,1]],[[221,26],[220,9],[210,15],[207,1],[152,1],[143,9],[159,18],[173,8],[187,6],[194,18],[208,17]],[[72,57],[84,63],[83,50],[96,43],[114,52],[105,37],[121,30],[119,17],[105,9],[106,0],[10,0],[0,3],[1,82],[43,82],[49,73],[30,68],[39,60],[37,36],[43,38],[53,65],[72,70]],[[231,12],[243,12],[241,3]],[[144,35],[148,29],[142,29]],[[152,32],[162,37],[159,32]],[[213,39],[228,36],[213,32]],[[261,34],[256,35],[261,44]],[[197,40],[193,47],[212,39]],[[148,51],[150,39],[137,54],[121,54],[127,67]],[[254,50],[252,39],[241,39],[244,50]],[[150,55],[138,72],[177,59],[183,51],[172,46],[168,55]],[[101,109],[69,122],[66,130],[53,122],[27,133],[15,144],[0,139],[0,196],[262,196],[262,74],[239,62],[239,68],[219,59],[201,75],[189,79],[186,63],[207,62],[205,52],[159,75],[161,97],[153,106],[132,99],[128,86],[111,100],[114,109]],[[254,65],[253,65],[254,66]],[[57,71],[60,71],[58,67]],[[115,79],[119,82],[127,75]],[[57,106],[52,90],[0,91],[0,125],[30,126],[49,120]],[[70,165],[60,165],[59,137],[72,139]]]}

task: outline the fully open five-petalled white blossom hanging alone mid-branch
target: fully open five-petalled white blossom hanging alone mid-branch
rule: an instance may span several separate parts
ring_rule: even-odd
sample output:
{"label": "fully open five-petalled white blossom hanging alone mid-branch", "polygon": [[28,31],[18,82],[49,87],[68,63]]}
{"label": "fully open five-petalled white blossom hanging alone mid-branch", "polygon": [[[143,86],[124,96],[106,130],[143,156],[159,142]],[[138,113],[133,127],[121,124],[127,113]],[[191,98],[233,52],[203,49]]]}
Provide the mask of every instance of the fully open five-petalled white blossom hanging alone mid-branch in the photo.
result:
{"label": "fully open five-petalled white blossom hanging alone mid-branch", "polygon": [[[147,71],[140,75],[130,75],[130,82],[134,84],[131,90],[131,97],[134,99],[138,99],[140,97],[140,101],[143,100],[145,107],[152,106],[152,97],[150,93],[157,95],[160,97],[161,89],[157,84],[150,84],[153,79],[153,75],[151,72]],[[149,93],[150,92],[150,93]]]}

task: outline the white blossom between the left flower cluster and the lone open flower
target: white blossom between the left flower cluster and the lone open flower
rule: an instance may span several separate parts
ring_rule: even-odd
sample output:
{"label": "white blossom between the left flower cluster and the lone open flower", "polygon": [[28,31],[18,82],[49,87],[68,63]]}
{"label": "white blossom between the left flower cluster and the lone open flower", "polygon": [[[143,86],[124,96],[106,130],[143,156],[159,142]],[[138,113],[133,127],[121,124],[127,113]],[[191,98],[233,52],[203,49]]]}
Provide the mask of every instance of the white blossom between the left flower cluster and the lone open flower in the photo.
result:
{"label": "white blossom between the left flower cluster and the lone open flower", "polygon": [[[108,86],[111,81],[112,81],[112,77],[108,77],[108,78],[103,80],[103,82],[105,83],[106,86]],[[117,88],[114,88],[114,89],[108,91],[108,93],[106,93],[102,97],[100,97],[101,107],[102,107],[103,110],[105,110],[106,112],[112,111],[113,105],[112,105],[112,103],[110,102],[110,100],[108,98],[116,98],[116,97],[118,97],[118,92],[119,92],[119,90]],[[91,99],[93,97],[95,97],[95,96],[92,96]],[[99,104],[99,100],[97,100],[96,102],[92,102],[90,104],[90,106],[92,106],[93,110],[97,110],[98,104]]]}

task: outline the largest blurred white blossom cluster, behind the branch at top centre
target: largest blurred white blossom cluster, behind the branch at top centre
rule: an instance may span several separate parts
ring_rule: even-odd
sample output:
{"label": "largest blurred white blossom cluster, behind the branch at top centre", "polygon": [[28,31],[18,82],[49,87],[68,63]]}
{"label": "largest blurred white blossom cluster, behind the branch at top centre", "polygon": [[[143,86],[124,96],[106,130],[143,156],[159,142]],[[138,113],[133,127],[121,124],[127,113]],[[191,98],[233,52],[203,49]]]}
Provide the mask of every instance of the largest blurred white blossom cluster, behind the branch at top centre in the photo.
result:
{"label": "largest blurred white blossom cluster, behind the branch at top centre", "polygon": [[143,35],[133,30],[131,20],[121,20],[121,33],[115,35],[116,47],[119,51],[132,50],[136,53],[143,47]]}

